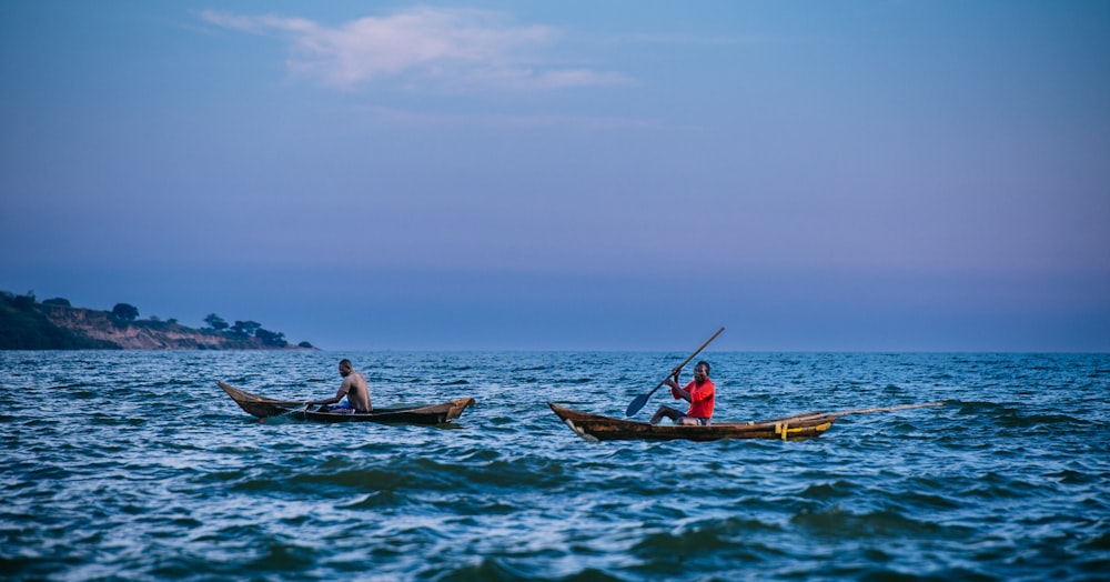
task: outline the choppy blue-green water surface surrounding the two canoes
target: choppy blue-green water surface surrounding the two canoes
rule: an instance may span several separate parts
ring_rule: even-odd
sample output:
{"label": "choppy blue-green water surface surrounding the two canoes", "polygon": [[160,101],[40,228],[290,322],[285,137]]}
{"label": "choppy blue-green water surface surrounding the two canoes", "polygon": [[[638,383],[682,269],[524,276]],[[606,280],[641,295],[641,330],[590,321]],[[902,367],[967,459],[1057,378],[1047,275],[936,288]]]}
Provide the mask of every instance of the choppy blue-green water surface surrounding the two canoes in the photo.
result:
{"label": "choppy blue-green water surface surrounding the two canoes", "polygon": [[[946,402],[808,441],[546,405],[623,417],[685,355],[0,352],[0,579],[1110,580],[1110,354],[703,353],[718,421]],[[215,384],[326,398],[341,358],[377,407],[477,405],[260,422]]]}

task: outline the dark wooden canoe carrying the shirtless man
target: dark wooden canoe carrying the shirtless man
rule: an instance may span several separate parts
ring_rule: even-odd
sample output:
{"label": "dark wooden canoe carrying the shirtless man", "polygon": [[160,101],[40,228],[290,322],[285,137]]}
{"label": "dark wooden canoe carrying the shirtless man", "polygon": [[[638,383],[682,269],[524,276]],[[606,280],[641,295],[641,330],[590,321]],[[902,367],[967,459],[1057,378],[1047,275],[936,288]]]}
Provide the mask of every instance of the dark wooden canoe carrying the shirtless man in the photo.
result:
{"label": "dark wooden canoe carrying the shirtless man", "polygon": [[463,414],[463,411],[474,405],[473,398],[461,398],[430,404],[396,409],[374,409],[365,414],[345,414],[342,412],[317,412],[305,410],[304,402],[274,400],[252,394],[245,390],[216,382],[232,400],[250,414],[260,419],[284,414],[289,418],[311,420],[316,422],[382,422],[397,424],[443,424]]}

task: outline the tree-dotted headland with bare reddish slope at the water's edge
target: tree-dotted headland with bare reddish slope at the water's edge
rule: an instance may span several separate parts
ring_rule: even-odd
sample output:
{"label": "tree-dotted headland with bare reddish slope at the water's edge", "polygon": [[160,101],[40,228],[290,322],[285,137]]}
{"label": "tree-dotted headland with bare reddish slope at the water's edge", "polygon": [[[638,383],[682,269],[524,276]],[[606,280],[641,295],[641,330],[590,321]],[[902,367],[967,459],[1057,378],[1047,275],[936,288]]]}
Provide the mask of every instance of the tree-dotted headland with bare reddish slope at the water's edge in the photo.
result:
{"label": "tree-dotted headland with bare reddish slope at the water's edge", "polygon": [[194,329],[175,319],[139,319],[139,309],[117,303],[111,311],[74,308],[68,299],[39,302],[33,292],[0,291],[0,350],[313,350],[254,321],[229,324],[215,313]]}

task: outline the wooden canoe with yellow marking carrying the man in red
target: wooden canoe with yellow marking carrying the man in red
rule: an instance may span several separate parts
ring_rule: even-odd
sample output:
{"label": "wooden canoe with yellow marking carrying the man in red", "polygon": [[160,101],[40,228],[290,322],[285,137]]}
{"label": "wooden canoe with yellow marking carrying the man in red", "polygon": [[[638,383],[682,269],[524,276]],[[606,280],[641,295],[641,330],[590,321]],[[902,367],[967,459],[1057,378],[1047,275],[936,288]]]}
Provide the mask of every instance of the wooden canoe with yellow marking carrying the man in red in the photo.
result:
{"label": "wooden canoe with yellow marking carrying the man in red", "polygon": [[650,424],[589,414],[547,403],[571,430],[587,441],[653,440],[717,441],[720,439],[813,439],[833,425],[836,414],[810,412],[758,422],[714,422],[708,427]]}

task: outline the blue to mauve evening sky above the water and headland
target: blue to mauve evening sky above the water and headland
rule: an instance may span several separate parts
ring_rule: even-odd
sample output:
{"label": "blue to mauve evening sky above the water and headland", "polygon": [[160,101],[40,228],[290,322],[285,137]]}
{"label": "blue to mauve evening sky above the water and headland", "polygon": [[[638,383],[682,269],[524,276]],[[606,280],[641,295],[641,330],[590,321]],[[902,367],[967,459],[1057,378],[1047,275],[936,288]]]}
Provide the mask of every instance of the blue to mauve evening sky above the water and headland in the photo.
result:
{"label": "blue to mauve evening sky above the water and headland", "polygon": [[0,290],[325,350],[1110,351],[1110,3],[0,3]]}

